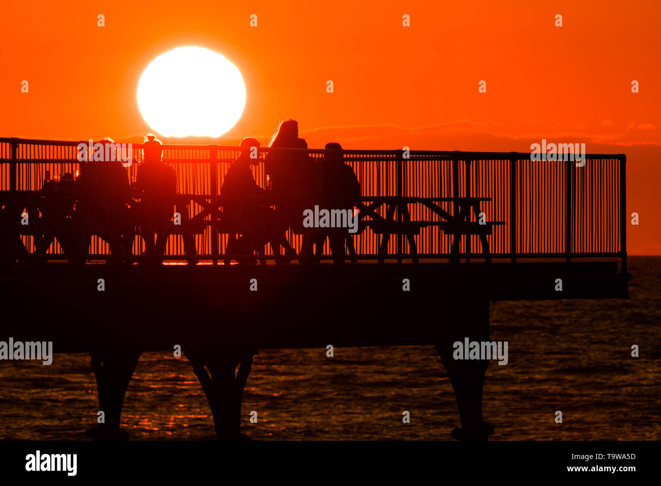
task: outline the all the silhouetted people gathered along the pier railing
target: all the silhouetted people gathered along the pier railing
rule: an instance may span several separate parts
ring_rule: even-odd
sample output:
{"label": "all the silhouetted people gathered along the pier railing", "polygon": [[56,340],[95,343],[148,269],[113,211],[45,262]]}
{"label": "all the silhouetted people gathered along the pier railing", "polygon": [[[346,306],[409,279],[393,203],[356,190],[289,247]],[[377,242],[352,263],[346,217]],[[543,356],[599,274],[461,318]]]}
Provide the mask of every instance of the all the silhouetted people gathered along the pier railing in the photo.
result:
{"label": "all the silhouetted people gathered along the pier railing", "polygon": [[[106,139],[100,143],[114,142]],[[335,263],[344,263],[345,243],[352,261],[356,261],[346,227],[303,227],[303,212],[315,205],[353,212],[360,203],[360,184],[353,169],[344,163],[342,147],[328,143],[324,157],[310,157],[295,120],[280,123],[269,147],[302,150],[271,150],[260,159],[259,147],[254,138],[245,138],[241,155],[223,177],[219,231],[229,234],[226,255],[239,263],[256,263],[254,254],[263,255],[270,243],[280,262],[317,262],[328,238]],[[264,161],[266,188],[253,176],[252,167],[260,160]],[[20,239],[25,231],[17,226],[16,214],[33,218],[41,214],[38,231],[30,232],[38,259],[47,258],[48,249],[57,239],[70,262],[84,263],[89,257],[91,235],[97,235],[108,243],[108,261],[132,263],[139,234],[145,242],[144,261],[162,263],[167,239],[176,227],[176,215],[181,218],[185,213],[184,221],[188,219],[186,207],[176,205],[176,195],[175,170],[163,163],[163,145],[149,135],[132,184],[118,158],[87,161],[81,163],[77,179],[71,173],[58,180],[47,177],[36,200],[5,206],[0,214],[0,254],[11,261],[19,254],[20,260],[20,254],[26,254]],[[181,221],[176,224],[186,260],[198,263],[192,230]],[[300,254],[290,244],[288,230],[303,235]],[[234,235],[241,236],[235,239]]]}

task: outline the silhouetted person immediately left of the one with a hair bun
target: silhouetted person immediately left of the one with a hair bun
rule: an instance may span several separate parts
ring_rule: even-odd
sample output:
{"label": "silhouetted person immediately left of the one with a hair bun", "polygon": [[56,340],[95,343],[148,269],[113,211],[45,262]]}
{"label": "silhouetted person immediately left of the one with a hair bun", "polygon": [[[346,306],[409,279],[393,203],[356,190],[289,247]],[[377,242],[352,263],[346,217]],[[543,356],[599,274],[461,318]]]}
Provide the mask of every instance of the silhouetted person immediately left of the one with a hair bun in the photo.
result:
{"label": "silhouetted person immediately left of the one with a hair bun", "polygon": [[[91,159],[81,165],[81,175],[77,181],[78,202],[76,204],[77,251],[86,259],[89,239],[97,235],[108,242],[112,258],[120,262],[122,255],[130,254],[130,241],[124,235],[132,233],[129,226],[128,204],[131,201],[131,189],[128,173],[118,157],[105,160],[105,155],[114,147],[114,143],[104,139],[102,160]],[[132,239],[132,235],[131,235]]]}

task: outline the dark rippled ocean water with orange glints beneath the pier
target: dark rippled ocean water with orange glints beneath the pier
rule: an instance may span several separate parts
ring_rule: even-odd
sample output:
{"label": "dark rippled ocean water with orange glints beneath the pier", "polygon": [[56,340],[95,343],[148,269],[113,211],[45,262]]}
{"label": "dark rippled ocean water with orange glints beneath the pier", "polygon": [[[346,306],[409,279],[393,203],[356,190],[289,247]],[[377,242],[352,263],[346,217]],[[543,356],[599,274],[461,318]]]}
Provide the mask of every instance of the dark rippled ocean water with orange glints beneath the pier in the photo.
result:
{"label": "dark rippled ocean water with orange glints beneath the pier", "polygon": [[[491,339],[509,342],[509,363],[486,372],[492,440],[661,439],[661,257],[631,257],[629,271],[629,300],[491,304]],[[1,361],[0,383],[0,438],[89,440],[98,401],[87,354]],[[335,348],[332,359],[325,349],[260,352],[242,412],[242,431],[258,440],[450,440],[459,425],[430,346]],[[141,356],[122,422],[132,439],[215,438],[188,360],[171,354]]]}

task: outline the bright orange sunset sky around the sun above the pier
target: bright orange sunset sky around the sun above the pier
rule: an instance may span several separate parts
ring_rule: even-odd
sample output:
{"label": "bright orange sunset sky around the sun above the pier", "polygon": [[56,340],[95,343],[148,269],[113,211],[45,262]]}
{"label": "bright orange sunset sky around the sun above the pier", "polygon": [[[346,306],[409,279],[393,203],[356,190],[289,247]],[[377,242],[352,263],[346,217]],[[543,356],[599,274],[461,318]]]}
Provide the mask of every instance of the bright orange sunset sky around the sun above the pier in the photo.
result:
{"label": "bright orange sunset sky around the sun above the pier", "polygon": [[641,217],[627,229],[629,253],[661,254],[658,0],[229,4],[3,4],[0,136],[140,142],[150,131],[136,102],[143,69],[172,48],[202,46],[239,67],[247,102],[230,132],[197,143],[265,143],[284,118],[299,121],[311,147],[585,142],[588,153],[627,154],[627,210]]}

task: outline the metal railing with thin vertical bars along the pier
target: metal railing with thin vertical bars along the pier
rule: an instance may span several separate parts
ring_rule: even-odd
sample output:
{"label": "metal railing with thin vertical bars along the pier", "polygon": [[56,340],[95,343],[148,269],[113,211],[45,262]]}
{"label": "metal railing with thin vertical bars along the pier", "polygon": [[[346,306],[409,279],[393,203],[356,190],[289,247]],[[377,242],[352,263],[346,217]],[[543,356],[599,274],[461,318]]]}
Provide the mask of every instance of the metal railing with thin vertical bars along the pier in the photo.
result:
{"label": "metal railing with thin vertical bars along the pier", "polygon": [[[65,173],[76,177],[81,169],[79,143],[0,138],[3,211],[16,210],[30,194],[38,194],[35,191],[42,189],[47,174],[50,179]],[[126,170],[131,182],[142,160],[141,148],[134,144],[129,154],[133,163]],[[186,216],[206,222],[204,231],[195,235],[200,258],[221,260],[230,235],[222,232],[221,212],[215,209],[222,208],[220,188],[229,165],[240,154],[239,147],[163,145],[163,149],[163,161],[176,172],[178,197],[187,203]],[[263,159],[272,150],[260,148],[260,163],[253,169],[264,188]],[[307,150],[317,161],[326,152]],[[410,253],[421,259],[508,259],[513,263],[525,258],[619,258],[625,271],[625,155],[588,154],[585,165],[577,167],[573,161],[531,161],[529,153],[517,152],[342,153],[361,187],[358,210],[364,224],[353,237],[360,259],[401,260]],[[392,223],[378,229],[375,220]],[[485,222],[486,229],[480,227]],[[415,223],[414,229],[397,229],[399,223]],[[33,252],[34,235],[20,238]],[[288,239],[300,249],[301,235],[288,231]],[[138,255],[142,249],[136,235],[133,251]],[[48,254],[60,253],[55,241]],[[107,255],[108,245],[94,236],[89,253],[91,257]],[[272,255],[270,249],[266,253]],[[324,254],[329,255],[328,245]],[[182,259],[182,255],[181,235],[170,235],[165,259]]]}

